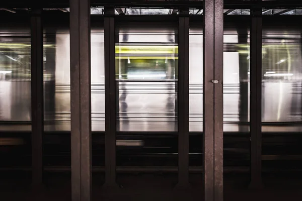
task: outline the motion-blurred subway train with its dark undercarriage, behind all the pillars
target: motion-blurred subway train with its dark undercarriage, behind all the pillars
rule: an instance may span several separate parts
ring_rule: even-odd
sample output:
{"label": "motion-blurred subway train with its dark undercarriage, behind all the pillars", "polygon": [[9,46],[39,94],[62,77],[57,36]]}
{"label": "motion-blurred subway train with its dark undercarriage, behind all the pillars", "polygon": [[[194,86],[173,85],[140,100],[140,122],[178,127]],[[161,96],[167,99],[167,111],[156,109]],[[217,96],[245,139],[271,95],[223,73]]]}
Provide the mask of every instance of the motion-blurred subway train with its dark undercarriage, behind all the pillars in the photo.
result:
{"label": "motion-blurred subway train with its dark undercarriage, behind all the pillars", "polygon": [[[1,155],[0,158],[11,161],[11,165],[19,161],[19,165],[30,166],[31,150],[27,146],[31,131],[30,33],[16,29],[4,29],[0,33],[0,129],[5,139],[19,137],[14,143],[24,144],[20,150],[26,157],[20,155],[18,149],[14,159],[7,158],[9,155]],[[49,166],[70,164],[70,135],[65,135],[70,131],[69,40],[66,27],[45,28],[44,162]],[[249,31],[225,29],[223,40],[223,131],[230,134],[224,137],[224,164],[249,166]],[[177,101],[177,29],[172,25],[117,24],[115,42],[117,166],[177,166],[178,107],[181,107]],[[189,66],[186,66],[189,67],[189,165],[201,166],[201,27],[190,27],[189,51]],[[299,30],[263,31],[263,132],[275,134],[302,130],[299,127],[302,120],[301,63]],[[92,28],[93,166],[104,165],[104,77],[104,32],[101,28]],[[20,138],[16,133],[28,135]],[[9,140],[3,140],[1,138],[1,143],[8,145]],[[271,147],[263,150],[264,155],[272,153]],[[20,162],[26,158],[27,162]]]}

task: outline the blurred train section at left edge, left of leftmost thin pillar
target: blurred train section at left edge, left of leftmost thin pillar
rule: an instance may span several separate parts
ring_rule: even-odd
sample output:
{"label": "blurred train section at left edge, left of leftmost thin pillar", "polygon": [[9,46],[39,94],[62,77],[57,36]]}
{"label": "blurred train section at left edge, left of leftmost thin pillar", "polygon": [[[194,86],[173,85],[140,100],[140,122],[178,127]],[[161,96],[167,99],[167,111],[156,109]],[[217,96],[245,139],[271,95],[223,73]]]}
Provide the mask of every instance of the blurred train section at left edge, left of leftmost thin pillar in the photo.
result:
{"label": "blurred train section at left edge, left of leftmost thin pillar", "polygon": [[31,121],[30,37],[0,38],[0,121]]}

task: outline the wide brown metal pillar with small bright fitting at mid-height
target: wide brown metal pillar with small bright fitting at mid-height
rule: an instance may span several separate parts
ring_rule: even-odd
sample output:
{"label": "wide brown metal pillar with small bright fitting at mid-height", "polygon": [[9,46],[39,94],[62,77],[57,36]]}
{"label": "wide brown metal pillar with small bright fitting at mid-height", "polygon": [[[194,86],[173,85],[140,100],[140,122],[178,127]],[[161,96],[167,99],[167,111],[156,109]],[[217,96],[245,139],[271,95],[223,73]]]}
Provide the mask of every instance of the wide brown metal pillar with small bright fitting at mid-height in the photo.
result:
{"label": "wide brown metal pillar with small bright fitting at mid-height", "polygon": [[223,200],[223,0],[204,0],[204,200]]}

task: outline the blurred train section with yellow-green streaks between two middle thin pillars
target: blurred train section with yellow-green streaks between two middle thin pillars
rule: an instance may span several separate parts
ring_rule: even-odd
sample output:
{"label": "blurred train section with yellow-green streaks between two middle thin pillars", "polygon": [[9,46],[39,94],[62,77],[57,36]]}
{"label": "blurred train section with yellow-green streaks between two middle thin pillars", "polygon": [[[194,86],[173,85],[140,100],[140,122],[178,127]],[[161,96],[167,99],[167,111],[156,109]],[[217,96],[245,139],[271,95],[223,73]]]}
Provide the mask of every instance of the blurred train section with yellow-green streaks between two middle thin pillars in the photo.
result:
{"label": "blurred train section with yellow-green streaks between two middle thin pillars", "polygon": [[138,35],[131,43],[131,34],[123,33],[115,46],[117,130],[177,131],[178,45],[171,35],[153,35],[153,43]]}

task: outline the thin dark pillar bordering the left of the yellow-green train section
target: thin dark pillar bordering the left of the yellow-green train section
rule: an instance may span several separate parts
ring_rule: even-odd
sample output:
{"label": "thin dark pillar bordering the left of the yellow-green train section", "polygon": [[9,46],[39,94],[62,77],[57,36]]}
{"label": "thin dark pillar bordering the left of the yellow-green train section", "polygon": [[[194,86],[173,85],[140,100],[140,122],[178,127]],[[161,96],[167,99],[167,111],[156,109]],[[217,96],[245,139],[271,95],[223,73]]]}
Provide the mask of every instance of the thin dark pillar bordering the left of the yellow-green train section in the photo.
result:
{"label": "thin dark pillar bordering the left of the yellow-green train section", "polygon": [[116,81],[114,7],[105,7],[105,184],[116,187]]}

